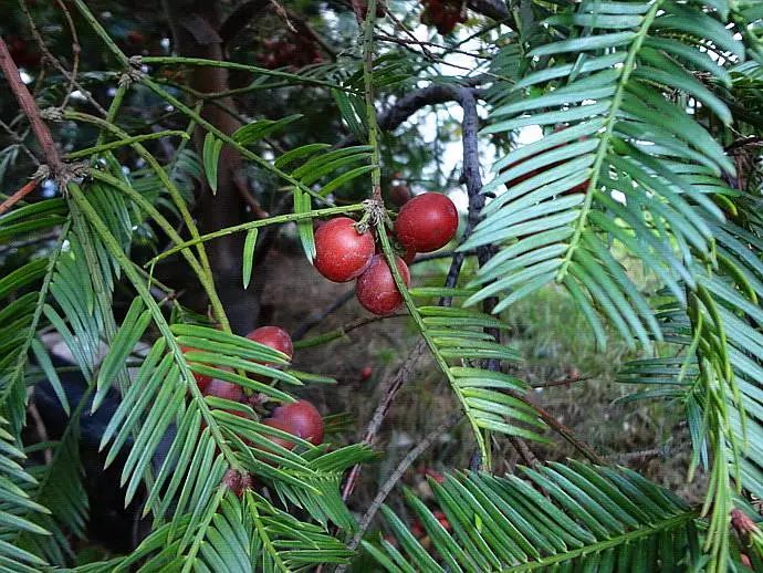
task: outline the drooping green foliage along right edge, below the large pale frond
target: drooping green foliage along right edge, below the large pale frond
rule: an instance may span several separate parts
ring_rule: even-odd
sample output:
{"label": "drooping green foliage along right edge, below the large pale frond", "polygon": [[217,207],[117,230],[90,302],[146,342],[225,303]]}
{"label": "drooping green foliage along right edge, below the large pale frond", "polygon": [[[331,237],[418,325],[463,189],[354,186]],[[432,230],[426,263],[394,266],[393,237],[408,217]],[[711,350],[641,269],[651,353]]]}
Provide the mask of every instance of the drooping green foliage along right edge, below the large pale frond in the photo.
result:
{"label": "drooping green foliage along right edge, below the large pale frond", "polygon": [[693,444],[690,475],[699,465],[710,473],[704,511],[711,512],[711,567],[719,570],[725,566],[734,483],[763,493],[763,264],[754,254],[763,248],[763,228],[746,227],[712,223],[718,270],[694,269],[700,285],[689,292],[688,313],[675,299],[662,306],[665,340],[683,352],[633,362],[618,375],[619,382],[648,385],[634,398],[682,407]]}

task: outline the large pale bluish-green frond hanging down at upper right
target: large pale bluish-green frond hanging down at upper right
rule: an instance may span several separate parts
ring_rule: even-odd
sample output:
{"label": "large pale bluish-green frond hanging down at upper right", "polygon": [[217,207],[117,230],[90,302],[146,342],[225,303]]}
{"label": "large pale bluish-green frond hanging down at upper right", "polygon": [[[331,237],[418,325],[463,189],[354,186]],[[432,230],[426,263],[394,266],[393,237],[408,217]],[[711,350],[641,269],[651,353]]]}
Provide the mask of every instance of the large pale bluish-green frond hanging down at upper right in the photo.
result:
{"label": "large pale bluish-green frond hanging down at upper right", "polygon": [[744,51],[714,15],[667,1],[582,2],[547,20],[562,39],[530,52],[545,65],[513,86],[529,97],[493,108],[483,133],[557,129],[495,163],[483,191],[497,197],[461,249],[502,247],[467,305],[501,295],[501,312],[555,281],[599,344],[599,315],[628,344],[662,338],[612,248],[641,259],[682,304],[693,268],[717,264],[710,221],[723,215],[710,194],[731,192],[720,177],[734,166],[697,116],[728,124],[731,113],[690,70],[728,82],[707,52],[739,60]]}

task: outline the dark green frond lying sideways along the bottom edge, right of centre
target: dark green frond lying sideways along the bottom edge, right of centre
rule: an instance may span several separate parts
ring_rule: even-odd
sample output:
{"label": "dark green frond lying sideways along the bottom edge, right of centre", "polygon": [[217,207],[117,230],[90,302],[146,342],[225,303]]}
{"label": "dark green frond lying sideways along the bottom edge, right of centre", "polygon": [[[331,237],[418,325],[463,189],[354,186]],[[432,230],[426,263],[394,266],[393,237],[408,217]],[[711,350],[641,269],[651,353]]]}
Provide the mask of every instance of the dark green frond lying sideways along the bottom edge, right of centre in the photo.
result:
{"label": "dark green frond lying sideways along the bottom edge, right of centre", "polygon": [[389,572],[618,571],[626,563],[650,572],[698,563],[697,512],[637,473],[576,461],[522,473],[430,480],[445,520],[406,491],[431,549],[386,506],[395,542],[364,546]]}

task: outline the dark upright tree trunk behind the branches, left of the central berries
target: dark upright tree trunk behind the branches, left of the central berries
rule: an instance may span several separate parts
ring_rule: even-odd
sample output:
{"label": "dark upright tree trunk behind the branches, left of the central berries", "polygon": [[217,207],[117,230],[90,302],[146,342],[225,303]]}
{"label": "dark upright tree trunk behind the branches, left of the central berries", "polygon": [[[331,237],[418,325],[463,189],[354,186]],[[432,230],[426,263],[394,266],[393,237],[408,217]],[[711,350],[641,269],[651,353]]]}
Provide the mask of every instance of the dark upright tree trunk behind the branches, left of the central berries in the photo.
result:
{"label": "dark upright tree trunk behind the branches, left of the central berries", "polygon": [[[208,0],[164,0],[174,45],[178,55],[224,60],[222,41],[218,34],[220,14],[218,2]],[[188,85],[200,93],[228,90],[228,71],[218,67],[192,67]],[[220,131],[232,134],[240,122],[221,107],[236,110],[231,97],[218,100],[221,106],[207,104],[201,115]],[[205,131],[195,134],[196,148],[201,155]],[[241,156],[229,146],[222,148],[218,165],[218,190],[213,196],[209,186],[201,186],[198,202],[198,223],[201,233],[245,221],[244,201],[237,191],[234,178],[241,169]],[[257,324],[260,311],[261,286],[252,281],[249,290],[241,280],[243,237],[241,233],[216,239],[207,243],[215,284],[228,313],[233,332],[245,334]]]}

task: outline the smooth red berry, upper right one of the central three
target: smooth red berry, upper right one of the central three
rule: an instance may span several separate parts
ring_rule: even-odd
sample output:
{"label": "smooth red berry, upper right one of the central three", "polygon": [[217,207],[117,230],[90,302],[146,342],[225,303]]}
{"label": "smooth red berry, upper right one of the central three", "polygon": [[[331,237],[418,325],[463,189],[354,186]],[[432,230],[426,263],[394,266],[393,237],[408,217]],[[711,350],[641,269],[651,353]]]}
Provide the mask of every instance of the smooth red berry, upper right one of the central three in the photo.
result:
{"label": "smooth red berry, upper right one of the central three", "polygon": [[431,252],[445,247],[458,229],[453,201],[439,192],[417,195],[400,209],[395,235],[407,249]]}

